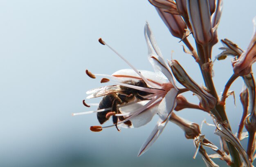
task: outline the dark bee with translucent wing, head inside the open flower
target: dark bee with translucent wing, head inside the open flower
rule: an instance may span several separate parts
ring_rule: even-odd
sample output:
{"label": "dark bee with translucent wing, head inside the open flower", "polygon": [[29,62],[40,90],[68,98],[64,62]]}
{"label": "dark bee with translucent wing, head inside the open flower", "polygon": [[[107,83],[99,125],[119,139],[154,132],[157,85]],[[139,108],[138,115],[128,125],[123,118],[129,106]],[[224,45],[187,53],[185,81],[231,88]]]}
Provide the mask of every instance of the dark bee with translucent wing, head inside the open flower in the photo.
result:
{"label": "dark bee with translucent wing, head inside the open flower", "polygon": [[[145,87],[149,88],[146,82],[144,80],[127,80],[123,82],[128,85],[135,85],[138,87]],[[115,124],[115,127],[119,131],[117,127],[117,122],[118,120],[125,120],[124,116],[115,116],[115,114],[121,114],[121,112],[118,109],[118,105],[126,104],[128,102],[132,102],[136,99],[139,100],[150,100],[145,98],[144,96],[148,96],[152,93],[146,92],[146,91],[140,91],[137,89],[133,89],[130,87],[125,87],[122,85],[111,85],[111,86],[105,86],[105,87],[100,87],[96,89],[92,89],[91,91],[88,92],[88,94],[92,94],[91,97],[99,97],[99,96],[104,96],[99,103],[99,109],[106,109],[106,108],[111,108],[110,110],[107,111],[101,111],[97,112],[97,118],[99,120],[100,124],[103,124],[106,122],[109,117],[109,114],[112,114],[112,120],[113,123]],[[124,122],[124,124],[131,126],[132,122],[130,120]]]}

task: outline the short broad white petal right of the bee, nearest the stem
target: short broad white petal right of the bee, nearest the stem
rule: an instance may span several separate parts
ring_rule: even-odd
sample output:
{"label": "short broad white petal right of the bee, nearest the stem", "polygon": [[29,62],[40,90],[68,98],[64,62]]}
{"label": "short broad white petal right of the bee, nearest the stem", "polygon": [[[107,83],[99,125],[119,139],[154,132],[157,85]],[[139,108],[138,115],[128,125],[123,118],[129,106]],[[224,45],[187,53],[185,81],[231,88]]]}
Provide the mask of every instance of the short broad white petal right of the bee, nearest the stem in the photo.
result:
{"label": "short broad white petal right of the bee, nearest the stem", "polygon": [[163,100],[158,105],[158,115],[162,120],[165,120],[176,106],[177,90],[171,89],[164,96]]}

